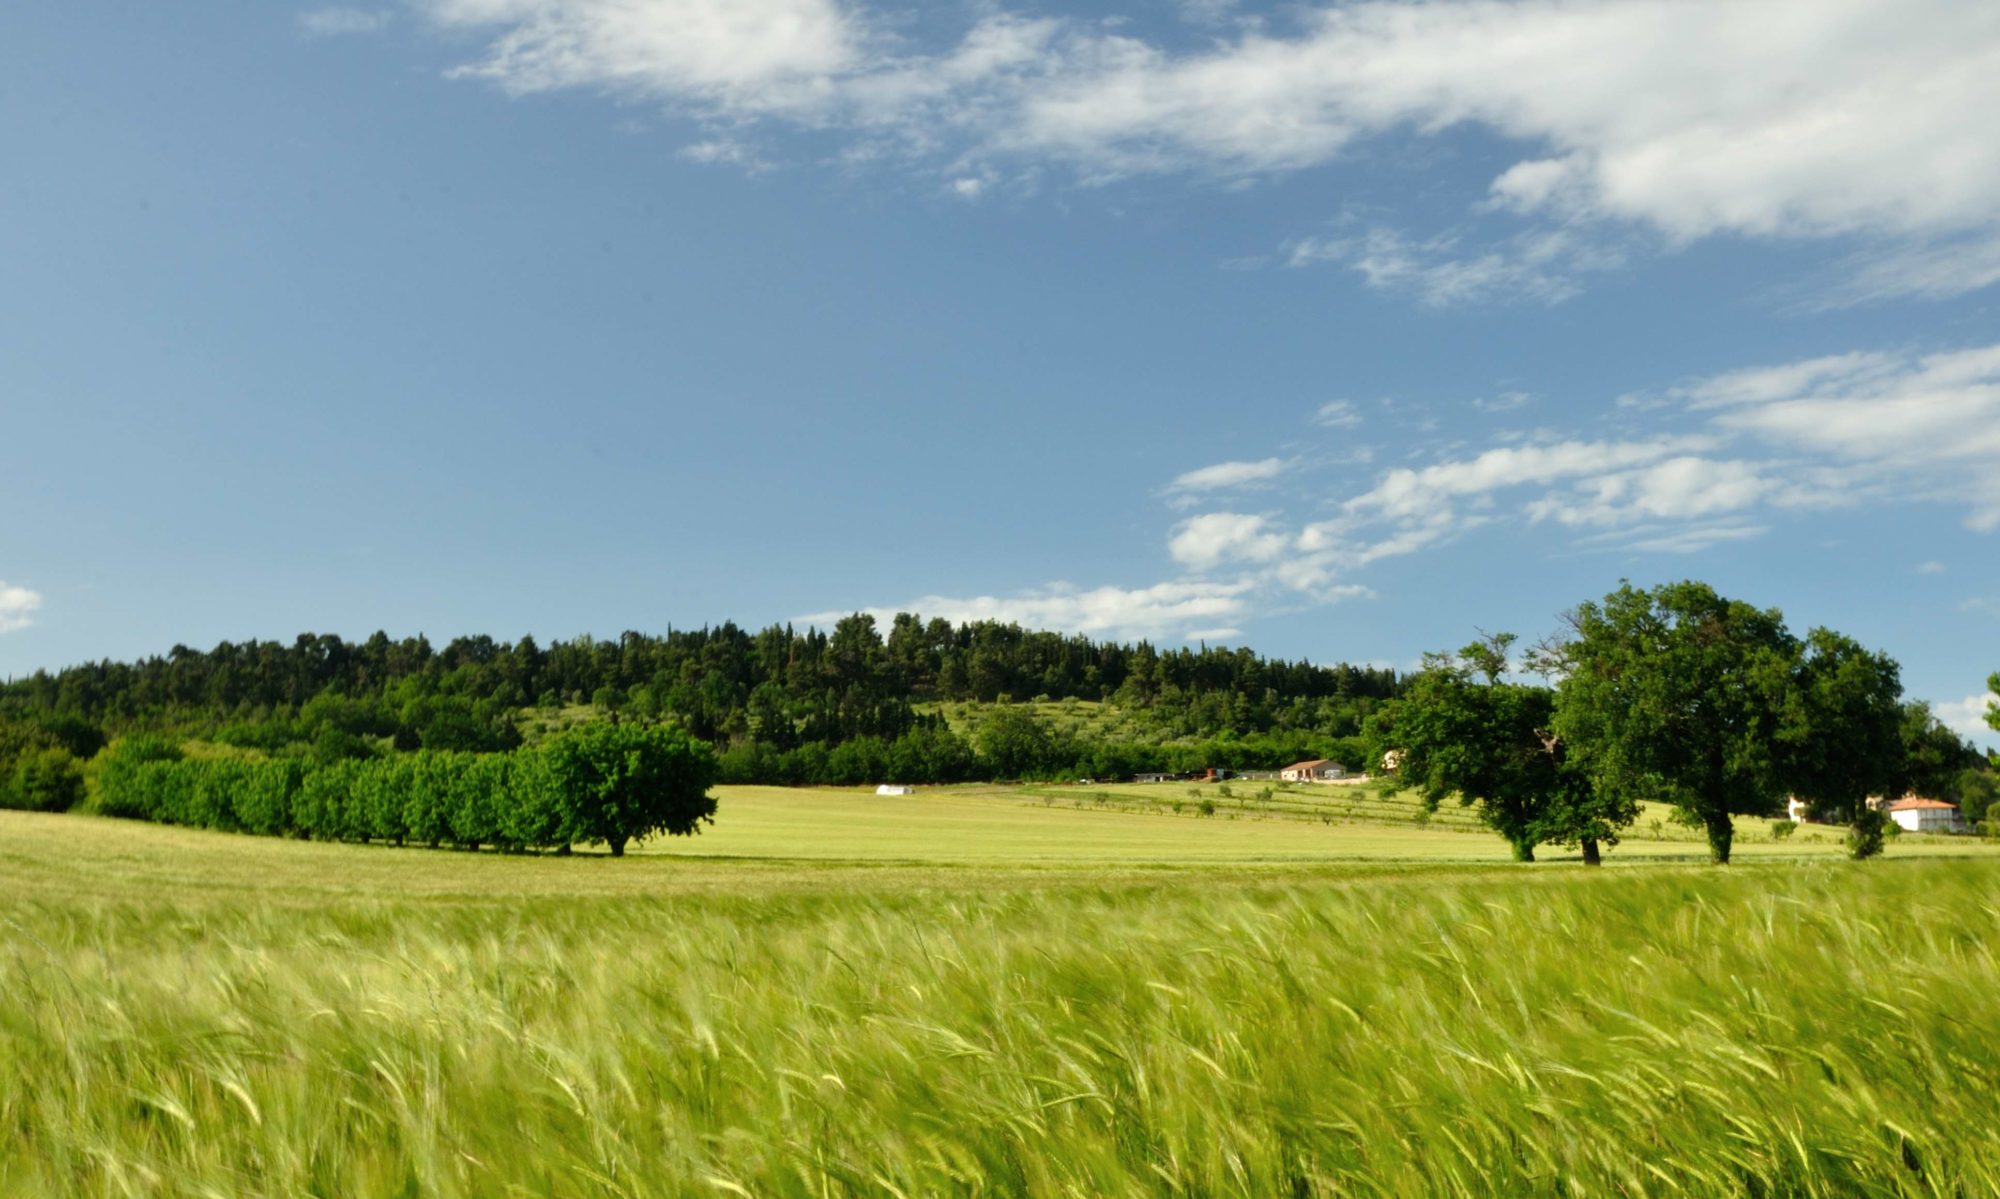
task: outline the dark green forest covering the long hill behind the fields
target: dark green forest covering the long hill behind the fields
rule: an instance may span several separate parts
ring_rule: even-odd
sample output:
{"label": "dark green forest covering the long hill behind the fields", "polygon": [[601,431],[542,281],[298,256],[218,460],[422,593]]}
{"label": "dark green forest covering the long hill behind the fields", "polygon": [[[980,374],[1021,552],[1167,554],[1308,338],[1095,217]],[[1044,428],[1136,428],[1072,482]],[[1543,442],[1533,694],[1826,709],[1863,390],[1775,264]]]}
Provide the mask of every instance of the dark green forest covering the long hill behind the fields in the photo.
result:
{"label": "dark green forest covering the long hill behind the fields", "polygon": [[[1158,649],[902,613],[884,631],[856,613],[830,631],[734,623],[578,637],[176,645],[0,683],[0,805],[70,807],[82,763],[110,737],[216,741],[312,761],[400,751],[496,753],[524,745],[536,711],[674,721],[716,745],[728,781],[850,783],[966,777],[1110,777],[1244,765],[1256,753],[1360,765],[1366,717],[1396,671],[1266,659],[1248,649]],[[1060,729],[982,755],[940,701],[1108,699],[1132,715],[1116,737]],[[1190,761],[1196,747],[1214,761]],[[1004,773],[982,773],[1002,761]],[[884,773],[886,771],[886,773]]]}

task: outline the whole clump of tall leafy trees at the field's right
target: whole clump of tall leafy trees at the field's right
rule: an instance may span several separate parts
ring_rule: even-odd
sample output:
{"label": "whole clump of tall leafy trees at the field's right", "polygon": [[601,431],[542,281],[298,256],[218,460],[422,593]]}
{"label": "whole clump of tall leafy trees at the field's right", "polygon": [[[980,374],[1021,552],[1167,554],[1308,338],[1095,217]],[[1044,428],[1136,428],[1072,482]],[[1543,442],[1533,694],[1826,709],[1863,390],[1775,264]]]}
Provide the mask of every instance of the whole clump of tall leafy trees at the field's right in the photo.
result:
{"label": "whole clump of tall leafy trees at the field's right", "polygon": [[[1432,805],[1478,807],[1524,861],[1562,843],[1596,863],[1642,799],[1672,803],[1726,863],[1734,817],[1778,815],[1792,795],[1850,823],[1856,855],[1882,845],[1868,795],[1974,771],[1990,797],[1972,747],[1902,701],[1894,659],[1824,627],[1794,635],[1706,584],[1622,586],[1512,649],[1500,633],[1430,655],[1370,737]],[[1542,681],[1510,681],[1516,667]]]}

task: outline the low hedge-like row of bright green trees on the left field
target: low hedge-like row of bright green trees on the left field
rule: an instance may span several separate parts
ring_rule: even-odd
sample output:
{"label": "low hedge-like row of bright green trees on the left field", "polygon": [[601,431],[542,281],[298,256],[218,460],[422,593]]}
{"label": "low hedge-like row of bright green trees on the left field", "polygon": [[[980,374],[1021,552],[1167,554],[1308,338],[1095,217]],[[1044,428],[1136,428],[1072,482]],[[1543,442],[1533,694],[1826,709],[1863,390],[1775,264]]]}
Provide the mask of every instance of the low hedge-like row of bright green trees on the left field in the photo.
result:
{"label": "low hedge-like row of bright green trees on the left field", "polygon": [[590,723],[534,749],[418,749],[378,759],[186,757],[160,737],[98,763],[106,815],[324,841],[476,849],[608,845],[690,835],[712,821],[710,747],[686,731]]}

